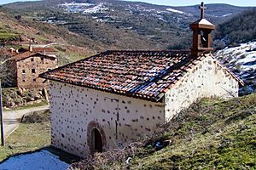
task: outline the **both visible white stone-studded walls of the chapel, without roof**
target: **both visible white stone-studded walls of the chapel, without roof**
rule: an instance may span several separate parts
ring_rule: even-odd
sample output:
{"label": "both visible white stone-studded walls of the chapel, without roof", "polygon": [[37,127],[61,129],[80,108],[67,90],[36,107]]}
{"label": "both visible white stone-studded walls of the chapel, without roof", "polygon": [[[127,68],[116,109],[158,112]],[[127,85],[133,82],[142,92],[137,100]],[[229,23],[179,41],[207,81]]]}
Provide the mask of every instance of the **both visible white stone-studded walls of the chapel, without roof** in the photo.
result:
{"label": "both visible white stone-studded walls of the chapel, without roof", "polygon": [[225,99],[237,92],[236,79],[211,56],[187,72],[160,102],[50,81],[52,144],[85,157],[93,152],[93,129],[101,133],[103,150],[112,149],[153,133],[196,99]]}

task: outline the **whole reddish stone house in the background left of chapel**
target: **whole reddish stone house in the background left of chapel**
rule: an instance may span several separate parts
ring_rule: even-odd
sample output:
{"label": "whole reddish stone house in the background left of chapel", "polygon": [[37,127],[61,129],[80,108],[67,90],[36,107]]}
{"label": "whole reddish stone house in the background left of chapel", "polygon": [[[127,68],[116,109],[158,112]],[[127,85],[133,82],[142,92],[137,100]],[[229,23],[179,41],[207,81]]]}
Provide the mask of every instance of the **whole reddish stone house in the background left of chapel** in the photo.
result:
{"label": "whole reddish stone house in the background left of chapel", "polygon": [[6,62],[12,76],[6,77],[9,85],[18,88],[42,88],[44,79],[38,75],[57,67],[57,58],[54,56],[25,52],[17,54]]}

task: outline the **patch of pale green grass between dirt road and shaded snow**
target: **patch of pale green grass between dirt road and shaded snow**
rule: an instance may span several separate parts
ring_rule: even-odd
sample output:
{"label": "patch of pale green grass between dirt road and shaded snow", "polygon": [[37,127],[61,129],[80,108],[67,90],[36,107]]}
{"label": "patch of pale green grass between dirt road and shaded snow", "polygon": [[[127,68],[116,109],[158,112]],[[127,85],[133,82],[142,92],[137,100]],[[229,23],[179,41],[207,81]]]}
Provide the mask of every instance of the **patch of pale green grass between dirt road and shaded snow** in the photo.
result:
{"label": "patch of pale green grass between dirt road and shaded snow", "polygon": [[49,122],[21,123],[15,132],[7,138],[6,146],[0,146],[0,161],[15,154],[48,146],[50,144],[49,132]]}

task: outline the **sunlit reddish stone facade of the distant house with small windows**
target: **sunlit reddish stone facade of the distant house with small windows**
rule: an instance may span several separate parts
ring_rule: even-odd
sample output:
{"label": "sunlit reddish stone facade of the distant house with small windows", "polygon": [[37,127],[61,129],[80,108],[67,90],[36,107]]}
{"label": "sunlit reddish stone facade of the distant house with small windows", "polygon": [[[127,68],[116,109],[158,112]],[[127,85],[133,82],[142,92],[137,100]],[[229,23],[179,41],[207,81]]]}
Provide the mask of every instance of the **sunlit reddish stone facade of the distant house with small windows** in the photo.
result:
{"label": "sunlit reddish stone facade of the distant house with small windows", "polygon": [[44,79],[38,75],[55,69],[57,59],[36,55],[16,62],[18,88],[42,88]]}

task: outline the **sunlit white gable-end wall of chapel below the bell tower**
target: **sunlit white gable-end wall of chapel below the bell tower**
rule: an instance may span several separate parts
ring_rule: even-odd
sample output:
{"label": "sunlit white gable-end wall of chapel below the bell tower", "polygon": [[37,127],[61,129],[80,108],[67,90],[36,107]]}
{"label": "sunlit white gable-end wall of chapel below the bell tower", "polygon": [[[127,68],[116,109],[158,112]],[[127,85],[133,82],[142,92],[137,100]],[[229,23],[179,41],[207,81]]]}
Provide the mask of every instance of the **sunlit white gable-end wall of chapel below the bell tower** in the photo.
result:
{"label": "sunlit white gable-end wall of chapel below the bell tower", "polygon": [[208,56],[166,93],[166,121],[197,99],[204,97],[228,99],[238,96],[238,90],[239,84],[236,79],[219,65],[217,59]]}

